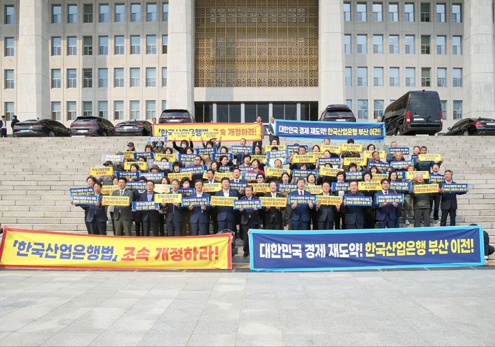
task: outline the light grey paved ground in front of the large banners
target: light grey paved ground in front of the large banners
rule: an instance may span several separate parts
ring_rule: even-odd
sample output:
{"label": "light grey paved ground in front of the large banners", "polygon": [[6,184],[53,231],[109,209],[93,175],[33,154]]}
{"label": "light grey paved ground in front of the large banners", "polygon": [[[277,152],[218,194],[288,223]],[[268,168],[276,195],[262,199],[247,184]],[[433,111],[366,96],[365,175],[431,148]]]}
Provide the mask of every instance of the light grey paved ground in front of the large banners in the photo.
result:
{"label": "light grey paved ground in front of the large banners", "polygon": [[494,283],[480,269],[1,271],[0,345],[493,345]]}

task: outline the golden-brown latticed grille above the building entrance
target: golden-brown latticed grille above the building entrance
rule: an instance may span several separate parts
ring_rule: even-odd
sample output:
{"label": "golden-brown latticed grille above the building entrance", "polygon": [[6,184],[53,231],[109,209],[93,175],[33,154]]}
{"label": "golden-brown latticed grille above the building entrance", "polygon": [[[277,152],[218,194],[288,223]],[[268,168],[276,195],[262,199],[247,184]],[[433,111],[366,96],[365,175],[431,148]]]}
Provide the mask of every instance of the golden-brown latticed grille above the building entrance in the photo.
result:
{"label": "golden-brown latticed grille above the building entrance", "polygon": [[196,87],[318,87],[318,0],[196,0]]}

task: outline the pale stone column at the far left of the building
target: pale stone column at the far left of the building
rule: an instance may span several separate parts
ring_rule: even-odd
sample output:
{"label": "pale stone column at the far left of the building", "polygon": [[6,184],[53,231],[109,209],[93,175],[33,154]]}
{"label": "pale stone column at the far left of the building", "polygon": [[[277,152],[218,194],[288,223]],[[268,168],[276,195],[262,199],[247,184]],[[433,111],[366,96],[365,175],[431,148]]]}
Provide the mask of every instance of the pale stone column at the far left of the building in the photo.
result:
{"label": "pale stone column at the far left of the building", "polygon": [[50,118],[50,64],[47,0],[19,1],[17,115]]}

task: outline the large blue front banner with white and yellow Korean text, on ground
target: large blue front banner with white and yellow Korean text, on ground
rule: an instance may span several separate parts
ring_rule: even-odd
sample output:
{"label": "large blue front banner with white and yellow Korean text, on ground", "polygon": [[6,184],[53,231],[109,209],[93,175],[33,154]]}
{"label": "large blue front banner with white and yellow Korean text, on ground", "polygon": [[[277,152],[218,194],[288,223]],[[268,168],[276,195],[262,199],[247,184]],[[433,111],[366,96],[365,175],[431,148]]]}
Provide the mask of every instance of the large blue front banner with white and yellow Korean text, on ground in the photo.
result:
{"label": "large blue front banner with white and yellow Korean text, on ground", "polygon": [[480,226],[250,230],[254,271],[333,271],[484,264]]}

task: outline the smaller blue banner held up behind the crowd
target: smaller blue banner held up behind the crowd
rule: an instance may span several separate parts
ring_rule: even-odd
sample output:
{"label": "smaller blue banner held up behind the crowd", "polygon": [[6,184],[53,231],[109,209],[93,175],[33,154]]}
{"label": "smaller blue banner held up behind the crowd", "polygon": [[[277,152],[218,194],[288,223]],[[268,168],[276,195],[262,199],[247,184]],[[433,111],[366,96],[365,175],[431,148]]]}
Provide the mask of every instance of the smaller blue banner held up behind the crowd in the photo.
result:
{"label": "smaller blue banner held up behind the crowd", "polygon": [[383,141],[383,122],[301,122],[299,120],[275,120],[275,135],[280,137],[303,137],[355,141]]}

